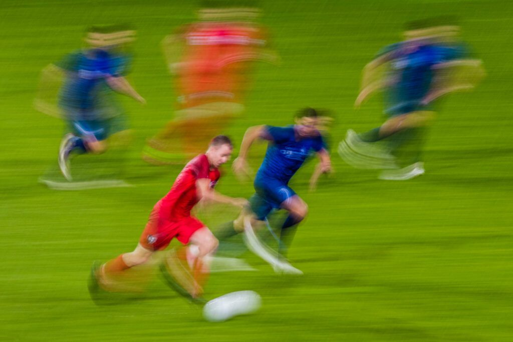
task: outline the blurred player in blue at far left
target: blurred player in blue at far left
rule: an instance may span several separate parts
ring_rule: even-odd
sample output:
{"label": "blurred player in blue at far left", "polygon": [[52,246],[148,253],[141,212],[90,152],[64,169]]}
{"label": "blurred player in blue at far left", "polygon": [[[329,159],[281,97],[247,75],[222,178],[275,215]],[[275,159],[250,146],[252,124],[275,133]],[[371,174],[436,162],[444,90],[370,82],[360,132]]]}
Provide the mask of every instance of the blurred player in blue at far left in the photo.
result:
{"label": "blurred player in blue at far left", "polygon": [[107,148],[107,137],[128,129],[124,111],[112,91],[145,103],[124,77],[132,57],[123,49],[134,37],[135,31],[127,26],[92,27],[85,37],[87,48],[67,55],[43,71],[43,83],[64,73],[58,109],[48,106],[42,96],[36,99],[36,108],[48,114],[57,111],[67,122],[58,164],[68,181],[72,180],[72,154],[102,153]]}

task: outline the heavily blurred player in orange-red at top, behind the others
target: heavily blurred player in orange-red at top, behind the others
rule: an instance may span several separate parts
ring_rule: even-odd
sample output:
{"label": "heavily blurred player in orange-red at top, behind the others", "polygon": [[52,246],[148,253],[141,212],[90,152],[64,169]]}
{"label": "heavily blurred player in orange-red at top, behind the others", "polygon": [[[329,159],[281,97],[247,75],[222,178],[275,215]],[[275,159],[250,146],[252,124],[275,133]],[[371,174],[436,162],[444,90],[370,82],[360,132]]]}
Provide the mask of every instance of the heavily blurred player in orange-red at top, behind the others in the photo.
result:
{"label": "heavily blurred player in orange-red at top, behind the others", "polygon": [[244,111],[255,61],[278,63],[265,30],[254,23],[261,11],[253,1],[205,1],[199,22],[164,38],[175,76],[175,117],[149,139],[143,158],[152,164],[183,163],[211,136]]}

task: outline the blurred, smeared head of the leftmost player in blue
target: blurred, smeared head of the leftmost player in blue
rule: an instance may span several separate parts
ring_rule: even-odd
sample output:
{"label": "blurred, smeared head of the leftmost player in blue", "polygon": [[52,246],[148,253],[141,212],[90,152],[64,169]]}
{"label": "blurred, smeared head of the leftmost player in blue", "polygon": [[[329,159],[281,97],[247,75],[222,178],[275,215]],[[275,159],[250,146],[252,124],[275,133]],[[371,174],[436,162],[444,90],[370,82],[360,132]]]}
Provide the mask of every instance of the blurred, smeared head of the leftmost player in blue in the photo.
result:
{"label": "blurred, smeared head of the leftmost player in blue", "polygon": [[135,30],[128,24],[95,25],[87,29],[84,40],[93,48],[116,47],[133,42]]}

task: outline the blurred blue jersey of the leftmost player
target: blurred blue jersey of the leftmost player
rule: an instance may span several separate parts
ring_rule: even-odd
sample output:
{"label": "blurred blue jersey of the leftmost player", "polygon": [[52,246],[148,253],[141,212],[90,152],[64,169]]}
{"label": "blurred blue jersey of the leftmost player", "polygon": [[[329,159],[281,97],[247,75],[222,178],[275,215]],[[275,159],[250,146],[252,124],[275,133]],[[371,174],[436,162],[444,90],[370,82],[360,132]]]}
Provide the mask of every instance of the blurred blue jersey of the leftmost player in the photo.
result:
{"label": "blurred blue jersey of the leftmost player", "polygon": [[123,69],[119,57],[101,49],[72,53],[56,64],[66,71],[60,103],[64,108],[93,112],[98,92],[105,79],[118,76]]}

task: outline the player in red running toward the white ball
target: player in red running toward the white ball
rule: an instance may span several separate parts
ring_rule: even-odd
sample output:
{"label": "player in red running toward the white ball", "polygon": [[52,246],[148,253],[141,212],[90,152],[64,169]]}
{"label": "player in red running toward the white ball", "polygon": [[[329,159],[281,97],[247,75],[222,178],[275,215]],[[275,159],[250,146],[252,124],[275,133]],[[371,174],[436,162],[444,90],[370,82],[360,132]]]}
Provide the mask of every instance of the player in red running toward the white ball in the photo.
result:
{"label": "player in red running toward the white ball", "polygon": [[244,198],[228,197],[213,189],[220,177],[218,168],[228,161],[232,149],[227,136],[214,137],[208,150],[185,166],[171,190],[155,204],[135,250],[101,266],[93,265],[89,284],[93,299],[98,290],[109,290],[117,275],[146,263],[154,252],[165,249],[173,237],[186,246],[168,255],[161,270],[169,285],[182,295],[193,300],[201,297],[204,275],[208,274],[205,257],[215,251],[218,240],[190,211],[201,199],[239,207],[247,203]]}

